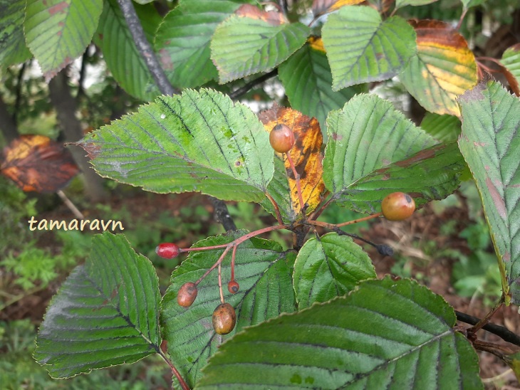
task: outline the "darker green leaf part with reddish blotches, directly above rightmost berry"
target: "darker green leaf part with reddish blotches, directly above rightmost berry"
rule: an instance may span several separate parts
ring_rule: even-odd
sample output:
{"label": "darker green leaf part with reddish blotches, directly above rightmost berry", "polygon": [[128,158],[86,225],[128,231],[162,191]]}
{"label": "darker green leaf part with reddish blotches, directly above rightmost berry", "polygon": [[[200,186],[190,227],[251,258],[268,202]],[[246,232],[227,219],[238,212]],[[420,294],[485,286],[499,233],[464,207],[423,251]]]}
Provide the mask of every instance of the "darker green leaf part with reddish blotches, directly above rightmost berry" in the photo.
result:
{"label": "darker green leaf part with reddish blotches, directly above rightmost berry", "polygon": [[359,179],[340,194],[338,204],[363,213],[378,213],[385,196],[405,192],[420,207],[452,194],[459,188],[465,169],[456,142],[435,145]]}

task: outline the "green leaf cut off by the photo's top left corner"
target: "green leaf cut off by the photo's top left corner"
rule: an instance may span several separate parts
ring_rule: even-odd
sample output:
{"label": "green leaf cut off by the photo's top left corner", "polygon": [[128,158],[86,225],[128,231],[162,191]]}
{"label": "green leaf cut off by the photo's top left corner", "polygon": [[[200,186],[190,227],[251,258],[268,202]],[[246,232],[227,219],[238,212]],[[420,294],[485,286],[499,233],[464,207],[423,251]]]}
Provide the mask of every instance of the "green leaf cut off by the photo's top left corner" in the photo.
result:
{"label": "green leaf cut off by the photo's top left corner", "polygon": [[0,66],[31,58],[24,38],[26,0],[0,0]]}

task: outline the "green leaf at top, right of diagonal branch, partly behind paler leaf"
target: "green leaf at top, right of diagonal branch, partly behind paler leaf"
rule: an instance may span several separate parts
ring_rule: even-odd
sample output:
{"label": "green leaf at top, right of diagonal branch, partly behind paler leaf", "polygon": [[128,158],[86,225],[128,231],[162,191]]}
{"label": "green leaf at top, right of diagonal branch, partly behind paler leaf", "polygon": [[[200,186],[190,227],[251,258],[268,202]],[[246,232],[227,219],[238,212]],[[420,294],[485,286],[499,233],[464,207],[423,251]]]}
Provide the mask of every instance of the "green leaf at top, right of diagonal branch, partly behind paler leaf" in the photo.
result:
{"label": "green leaf at top, right of diagonal branch, partly behind paler leaf", "polygon": [[238,7],[234,1],[181,1],[165,16],[157,30],[155,51],[172,85],[192,88],[217,78],[209,43],[217,25]]}

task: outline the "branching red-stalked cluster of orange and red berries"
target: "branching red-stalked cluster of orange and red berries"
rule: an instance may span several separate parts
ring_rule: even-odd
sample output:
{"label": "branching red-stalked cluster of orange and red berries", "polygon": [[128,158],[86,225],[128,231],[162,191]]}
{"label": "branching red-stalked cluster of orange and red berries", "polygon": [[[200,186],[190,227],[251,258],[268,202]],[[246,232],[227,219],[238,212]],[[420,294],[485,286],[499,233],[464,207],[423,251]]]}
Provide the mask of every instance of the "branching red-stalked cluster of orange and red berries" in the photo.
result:
{"label": "branching red-stalked cluster of orange and red berries", "polygon": [[[293,161],[291,159],[290,154],[288,152],[292,149],[295,138],[293,131],[287,126],[283,124],[279,124],[274,126],[273,130],[271,130],[271,133],[269,135],[269,142],[271,143],[271,147],[279,153],[285,153],[286,159],[291,165],[291,169],[293,170],[295,179],[296,179],[296,188],[298,190],[298,197],[300,201],[300,206],[302,210],[302,214],[305,213],[305,205],[303,204],[303,198],[301,194],[301,187],[299,183],[299,175],[296,172],[296,169],[294,167]],[[221,263],[222,260],[226,257],[227,253],[232,249],[232,262],[231,262],[231,280],[229,281],[227,285],[227,289],[232,294],[236,294],[236,292],[239,291],[239,283],[234,280],[234,263],[235,263],[235,255],[236,255],[236,248],[239,246],[240,243],[248,240],[251,237],[258,236],[261,233],[266,233],[268,231],[274,231],[276,229],[287,229],[287,230],[293,230],[293,226],[291,225],[284,225],[284,223],[281,221],[281,216],[279,213],[279,208],[276,202],[269,198],[271,202],[273,203],[273,206],[276,211],[276,216],[279,221],[278,226],[271,226],[269,228],[263,228],[258,231],[254,231],[251,233],[247,233],[246,235],[237,238],[236,240],[232,241],[231,243],[217,245],[217,246],[207,246],[207,247],[198,247],[198,248],[179,248],[175,243],[161,243],[157,248],[155,249],[157,255],[160,255],[162,258],[172,259],[176,258],[180,253],[189,252],[189,251],[208,251],[213,250],[217,248],[224,248],[224,251],[222,252],[222,255],[220,255],[219,259],[216,263],[207,270],[204,275],[202,275],[199,280],[196,282],[189,282],[184,283],[184,285],[181,286],[179,291],[177,292],[177,303],[182,307],[189,307],[193,304],[195,299],[197,298],[197,285],[212,271],[214,268],[218,267],[219,272],[219,291],[220,291],[220,300],[221,303],[215,308],[212,316],[212,324],[215,332],[217,334],[228,334],[229,332],[232,332],[232,330],[235,327],[236,324],[236,313],[232,305],[230,305],[227,302],[224,302],[224,293],[222,292],[222,273],[221,273]],[[326,203],[324,206],[322,206],[322,209],[327,206],[328,203]],[[405,218],[410,217],[413,212],[415,211],[415,201],[412,199],[411,196],[408,194],[404,194],[402,192],[394,192],[392,194],[389,194],[388,196],[383,199],[381,202],[381,213],[376,213],[371,216],[365,217],[365,218],[359,218],[354,221],[348,221],[345,223],[338,223],[336,225],[332,225],[329,223],[323,223],[316,221],[316,218],[318,217],[319,213],[314,212],[312,217],[307,218],[306,215],[303,215],[302,224],[308,225],[309,228],[312,228],[314,226],[323,226],[326,228],[331,228],[333,231],[337,231],[338,233],[345,233],[343,231],[340,231],[341,226],[346,226],[351,223],[357,223],[359,221],[364,221],[368,218],[375,218],[378,216],[383,215],[385,218],[387,218],[390,221],[402,221]],[[347,234],[347,233],[345,233]],[[352,235],[354,236],[354,235]],[[360,238],[358,236],[355,236],[356,238]],[[391,248],[385,245],[376,245],[374,243],[371,243],[370,241],[367,241],[363,238],[360,238],[363,241],[370,243],[371,245],[378,248],[378,251],[382,253],[383,255],[391,255],[392,251]],[[387,248],[388,247],[388,248]]]}

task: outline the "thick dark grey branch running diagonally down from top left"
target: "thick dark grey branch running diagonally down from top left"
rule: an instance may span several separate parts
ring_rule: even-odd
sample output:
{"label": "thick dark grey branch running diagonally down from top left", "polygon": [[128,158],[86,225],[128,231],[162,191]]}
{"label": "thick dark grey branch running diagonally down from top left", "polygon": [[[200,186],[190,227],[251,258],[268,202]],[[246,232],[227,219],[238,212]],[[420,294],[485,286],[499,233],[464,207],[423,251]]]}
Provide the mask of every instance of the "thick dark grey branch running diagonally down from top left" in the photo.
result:
{"label": "thick dark grey branch running diagonally down from top left", "polygon": [[159,87],[159,90],[163,95],[175,95],[179,93],[170,84],[170,81],[166,77],[165,71],[161,68],[159,60],[150,45],[150,42],[146,39],[145,31],[142,30],[141,22],[135,13],[135,8],[131,0],[118,0],[118,4],[123,12],[125,21],[128,24],[132,38],[137,46],[137,50],[145,60],[147,68],[152,73],[152,77]]}

